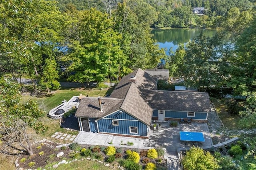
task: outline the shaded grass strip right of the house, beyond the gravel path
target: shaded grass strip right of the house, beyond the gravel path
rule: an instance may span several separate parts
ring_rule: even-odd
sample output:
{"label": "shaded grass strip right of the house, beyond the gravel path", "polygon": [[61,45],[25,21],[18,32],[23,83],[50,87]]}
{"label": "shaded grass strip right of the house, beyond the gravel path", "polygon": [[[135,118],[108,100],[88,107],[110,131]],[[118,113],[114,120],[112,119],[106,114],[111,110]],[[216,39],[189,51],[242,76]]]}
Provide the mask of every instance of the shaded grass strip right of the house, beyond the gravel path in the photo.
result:
{"label": "shaded grass strip right of the house, beyond the gravel path", "polygon": [[230,115],[226,110],[225,99],[216,99],[211,97],[213,105],[215,106],[216,112],[224,126],[228,129],[237,129],[238,121],[240,120],[239,115]]}

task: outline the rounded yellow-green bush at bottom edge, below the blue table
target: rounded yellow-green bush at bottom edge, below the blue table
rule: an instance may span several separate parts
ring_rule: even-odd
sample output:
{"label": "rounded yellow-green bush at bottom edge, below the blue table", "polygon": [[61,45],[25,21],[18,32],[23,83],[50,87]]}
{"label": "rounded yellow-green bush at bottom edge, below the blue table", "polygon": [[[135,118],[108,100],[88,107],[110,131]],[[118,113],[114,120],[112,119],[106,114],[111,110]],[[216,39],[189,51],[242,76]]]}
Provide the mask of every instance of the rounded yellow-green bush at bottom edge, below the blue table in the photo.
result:
{"label": "rounded yellow-green bush at bottom edge, below the blue table", "polygon": [[185,170],[216,170],[219,167],[210,152],[194,146],[186,152],[182,164]]}

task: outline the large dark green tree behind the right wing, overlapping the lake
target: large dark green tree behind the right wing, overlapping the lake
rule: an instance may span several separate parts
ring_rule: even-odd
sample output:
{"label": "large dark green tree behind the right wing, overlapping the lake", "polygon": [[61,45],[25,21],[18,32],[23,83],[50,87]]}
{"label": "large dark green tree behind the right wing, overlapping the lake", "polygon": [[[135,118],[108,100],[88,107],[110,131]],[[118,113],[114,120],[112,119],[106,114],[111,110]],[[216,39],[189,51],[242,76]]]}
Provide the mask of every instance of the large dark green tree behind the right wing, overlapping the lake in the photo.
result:
{"label": "large dark green tree behind the right wing, overlapping the lake", "polygon": [[196,87],[199,91],[206,91],[210,85],[221,82],[219,65],[222,36],[216,34],[212,38],[199,36],[192,39],[185,47],[184,75],[187,86]]}

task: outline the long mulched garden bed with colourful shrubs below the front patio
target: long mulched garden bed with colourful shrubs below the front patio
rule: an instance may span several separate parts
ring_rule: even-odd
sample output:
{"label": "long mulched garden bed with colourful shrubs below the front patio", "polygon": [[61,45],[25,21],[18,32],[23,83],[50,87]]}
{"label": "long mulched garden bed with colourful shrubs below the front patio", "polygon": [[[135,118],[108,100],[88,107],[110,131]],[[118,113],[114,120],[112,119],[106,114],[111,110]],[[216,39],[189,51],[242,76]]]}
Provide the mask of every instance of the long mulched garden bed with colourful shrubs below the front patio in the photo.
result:
{"label": "long mulched garden bed with colourful shrubs below the front patio", "polygon": [[[91,145],[76,145],[74,147],[64,146],[61,148],[56,148],[54,142],[46,141],[33,145],[34,154],[29,156],[28,154],[20,154],[18,158],[18,167],[24,169],[36,169],[36,168],[52,168],[54,164],[58,164],[62,160],[72,163],[74,160],[95,160],[95,163],[108,164],[110,169],[118,169],[121,166],[131,166],[128,159],[127,150],[131,150],[132,153],[138,153],[139,162],[138,166],[140,168],[145,168],[146,164],[152,162],[156,165],[158,169],[167,169],[167,160],[162,156],[157,156],[157,158],[148,158],[148,150],[135,149],[135,148],[124,148],[124,147],[114,147],[116,149],[113,160],[110,160],[110,156],[106,155],[107,146],[91,146]],[[85,148],[85,149],[83,149]],[[82,154],[81,150],[84,150],[86,154]],[[60,152],[64,152],[63,156],[56,157]],[[89,153],[89,154],[88,154]],[[88,155],[87,155],[88,154]],[[114,158],[113,158],[114,157]],[[89,159],[90,158],[90,159]],[[96,162],[97,161],[97,162]],[[60,163],[59,163],[60,164]],[[135,164],[135,163],[132,163]],[[133,166],[133,165],[132,165]],[[130,169],[127,168],[126,169]]]}

